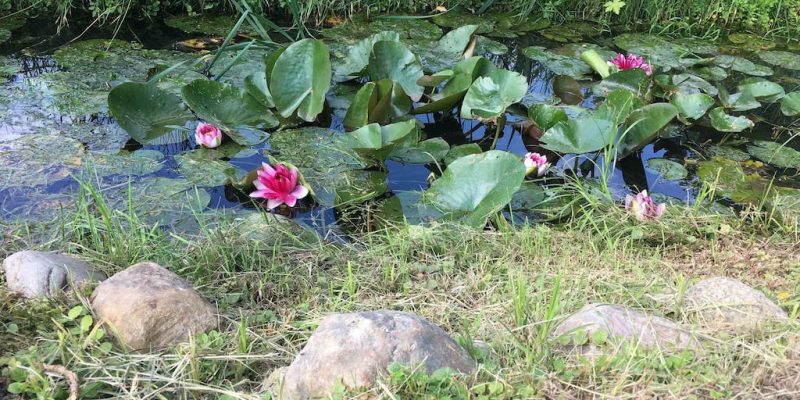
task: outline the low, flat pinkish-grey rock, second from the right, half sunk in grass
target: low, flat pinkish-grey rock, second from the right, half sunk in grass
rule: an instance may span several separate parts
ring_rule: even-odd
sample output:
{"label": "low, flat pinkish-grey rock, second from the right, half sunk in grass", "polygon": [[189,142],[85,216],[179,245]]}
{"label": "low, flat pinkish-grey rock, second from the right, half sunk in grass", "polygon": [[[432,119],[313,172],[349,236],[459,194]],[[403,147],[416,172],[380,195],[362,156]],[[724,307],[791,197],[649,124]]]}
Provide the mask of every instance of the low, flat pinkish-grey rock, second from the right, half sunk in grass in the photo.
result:
{"label": "low, flat pinkish-grey rock, second from the right, half sunk in grass", "polygon": [[[581,330],[588,342],[578,339],[583,336],[578,333]],[[614,304],[587,304],[561,321],[553,334],[561,344],[562,337],[569,338],[566,348],[595,357],[603,353],[600,344],[592,343],[593,334],[598,331],[605,332],[606,340],[612,344],[628,342],[648,350],[684,350],[698,344],[689,331],[675,322]]]}

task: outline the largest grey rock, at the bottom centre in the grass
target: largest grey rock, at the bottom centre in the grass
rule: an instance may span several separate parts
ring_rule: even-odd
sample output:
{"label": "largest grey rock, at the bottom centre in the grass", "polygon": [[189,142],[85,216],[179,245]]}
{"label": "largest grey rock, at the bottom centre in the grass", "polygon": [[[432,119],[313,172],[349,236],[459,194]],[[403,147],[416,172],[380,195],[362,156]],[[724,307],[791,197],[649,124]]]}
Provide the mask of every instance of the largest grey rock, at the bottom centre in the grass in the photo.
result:
{"label": "largest grey rock, at the bottom centre in the grass", "polygon": [[282,398],[327,397],[337,381],[370,387],[389,365],[470,373],[475,362],[441,328],[414,314],[373,311],[325,318],[286,370]]}

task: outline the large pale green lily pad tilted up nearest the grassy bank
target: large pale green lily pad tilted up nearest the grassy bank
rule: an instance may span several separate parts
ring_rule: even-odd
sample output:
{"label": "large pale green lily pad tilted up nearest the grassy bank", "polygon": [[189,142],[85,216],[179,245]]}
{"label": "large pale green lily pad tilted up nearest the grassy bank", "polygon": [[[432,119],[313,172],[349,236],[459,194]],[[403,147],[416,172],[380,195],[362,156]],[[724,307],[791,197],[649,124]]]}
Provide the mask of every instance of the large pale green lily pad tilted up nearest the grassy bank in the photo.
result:
{"label": "large pale green lily pad tilted up nearest the grassy bank", "polygon": [[433,181],[423,203],[442,212],[442,219],[481,228],[508,205],[525,178],[519,157],[504,151],[461,157]]}

